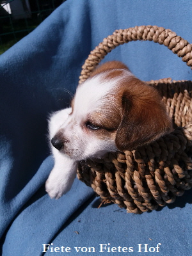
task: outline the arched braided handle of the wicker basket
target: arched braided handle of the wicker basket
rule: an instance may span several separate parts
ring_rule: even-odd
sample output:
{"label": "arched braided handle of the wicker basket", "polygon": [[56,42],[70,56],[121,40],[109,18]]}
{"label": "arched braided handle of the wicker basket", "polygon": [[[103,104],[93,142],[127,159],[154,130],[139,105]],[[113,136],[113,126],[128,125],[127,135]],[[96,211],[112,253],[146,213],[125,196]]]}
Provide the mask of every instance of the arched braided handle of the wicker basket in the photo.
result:
{"label": "arched braided handle of the wicker basket", "polygon": [[91,74],[93,69],[100,61],[120,44],[125,44],[136,40],[148,40],[155,43],[164,44],[173,53],[182,57],[182,61],[186,62],[192,69],[192,45],[170,29],[164,29],[157,26],[136,26],[134,28],[116,30],[113,35],[104,38],[95,49],[90,52],[87,60],[82,67],[79,84],[83,83]]}

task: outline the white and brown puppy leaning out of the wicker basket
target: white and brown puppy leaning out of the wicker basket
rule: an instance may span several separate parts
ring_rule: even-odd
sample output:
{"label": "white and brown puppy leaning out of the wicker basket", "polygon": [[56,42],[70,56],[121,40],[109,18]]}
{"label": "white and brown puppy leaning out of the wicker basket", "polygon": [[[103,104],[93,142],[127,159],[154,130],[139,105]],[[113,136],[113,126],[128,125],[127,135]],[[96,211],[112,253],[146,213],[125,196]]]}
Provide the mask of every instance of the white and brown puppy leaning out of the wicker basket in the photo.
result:
{"label": "white and brown puppy leaning out of the wicker basket", "polygon": [[51,198],[71,188],[77,161],[134,150],[170,132],[172,123],[156,89],[123,63],[100,65],[77,87],[71,108],[49,120],[54,168],[45,184]]}

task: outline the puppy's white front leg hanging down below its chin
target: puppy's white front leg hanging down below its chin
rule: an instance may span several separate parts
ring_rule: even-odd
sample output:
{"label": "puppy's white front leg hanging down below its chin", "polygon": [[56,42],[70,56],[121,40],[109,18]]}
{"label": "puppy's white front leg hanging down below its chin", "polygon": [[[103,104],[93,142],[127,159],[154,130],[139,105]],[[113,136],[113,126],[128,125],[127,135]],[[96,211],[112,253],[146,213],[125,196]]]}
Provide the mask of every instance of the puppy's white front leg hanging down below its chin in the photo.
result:
{"label": "puppy's white front leg hanging down below its chin", "polygon": [[45,183],[45,190],[51,198],[60,198],[67,193],[76,177],[76,161],[60,152],[54,154],[55,164]]}

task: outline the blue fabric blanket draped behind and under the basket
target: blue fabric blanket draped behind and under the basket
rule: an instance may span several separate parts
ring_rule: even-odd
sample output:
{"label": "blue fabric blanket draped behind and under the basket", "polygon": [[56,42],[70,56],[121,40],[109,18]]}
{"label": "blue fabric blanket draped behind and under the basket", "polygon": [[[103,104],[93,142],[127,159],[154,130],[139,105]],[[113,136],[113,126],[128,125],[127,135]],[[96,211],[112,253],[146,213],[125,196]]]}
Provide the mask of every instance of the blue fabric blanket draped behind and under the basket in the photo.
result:
{"label": "blue fabric blanket draped behind and under the basket", "polygon": [[[99,199],[77,179],[60,200],[44,188],[53,166],[47,116],[70,103],[90,51],[115,29],[140,25],[170,28],[192,42],[191,0],[175,2],[67,0],[0,56],[1,255],[192,254],[191,191],[134,215],[114,204],[97,209]],[[192,79],[186,63],[153,42],[121,45],[106,60],[123,61],[144,81]]]}

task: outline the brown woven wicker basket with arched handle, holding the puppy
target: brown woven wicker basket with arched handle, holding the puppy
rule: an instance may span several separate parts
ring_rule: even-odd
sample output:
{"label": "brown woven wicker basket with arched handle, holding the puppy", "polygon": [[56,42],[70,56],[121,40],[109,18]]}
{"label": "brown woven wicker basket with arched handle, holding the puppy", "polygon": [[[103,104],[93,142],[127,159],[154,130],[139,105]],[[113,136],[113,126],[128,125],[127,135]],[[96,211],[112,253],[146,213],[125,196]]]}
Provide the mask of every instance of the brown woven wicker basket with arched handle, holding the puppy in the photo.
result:
{"label": "brown woven wicker basket with arched handle, holding the puppy", "polygon": [[[192,67],[192,45],[170,29],[140,26],[116,30],[104,38],[83,65],[83,83],[98,63],[116,46],[132,40],[164,44]],[[175,201],[192,186],[192,83],[160,79],[148,82],[161,93],[175,131],[150,145],[125,152],[109,152],[103,159],[81,161],[77,177],[104,202],[114,202],[128,212],[141,213]]]}

